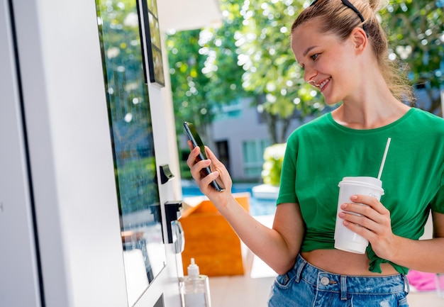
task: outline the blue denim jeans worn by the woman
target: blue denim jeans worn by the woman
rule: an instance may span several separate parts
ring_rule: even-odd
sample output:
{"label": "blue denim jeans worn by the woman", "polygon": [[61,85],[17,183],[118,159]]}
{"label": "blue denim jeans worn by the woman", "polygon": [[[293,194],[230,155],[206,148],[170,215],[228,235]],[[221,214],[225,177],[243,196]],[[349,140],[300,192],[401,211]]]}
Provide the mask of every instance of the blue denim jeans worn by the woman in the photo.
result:
{"label": "blue denim jeans worn by the woman", "polygon": [[276,277],[269,307],[408,307],[409,282],[402,274],[359,277],[313,267],[301,255]]}

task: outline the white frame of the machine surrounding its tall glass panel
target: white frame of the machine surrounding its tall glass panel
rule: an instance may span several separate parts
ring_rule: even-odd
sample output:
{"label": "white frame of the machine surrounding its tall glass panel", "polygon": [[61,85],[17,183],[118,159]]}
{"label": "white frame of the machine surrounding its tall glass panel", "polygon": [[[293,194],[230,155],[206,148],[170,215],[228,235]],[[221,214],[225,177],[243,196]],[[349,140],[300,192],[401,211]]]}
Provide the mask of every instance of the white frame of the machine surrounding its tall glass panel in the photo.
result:
{"label": "white frame of the machine surrounding its tall glass panel", "polygon": [[[1,306],[128,306],[95,2],[1,0],[0,41]],[[174,116],[149,93],[157,164],[177,175],[165,203],[182,197]],[[166,250],[135,307],[180,306]]]}

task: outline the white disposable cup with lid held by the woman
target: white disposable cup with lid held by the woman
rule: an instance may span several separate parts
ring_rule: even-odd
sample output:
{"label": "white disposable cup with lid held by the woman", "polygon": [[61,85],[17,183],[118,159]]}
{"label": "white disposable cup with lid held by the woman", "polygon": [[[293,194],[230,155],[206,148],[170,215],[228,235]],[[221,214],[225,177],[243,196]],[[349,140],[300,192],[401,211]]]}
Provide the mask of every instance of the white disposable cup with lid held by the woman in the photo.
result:
{"label": "white disposable cup with lid held by the woman", "polygon": [[[368,240],[354,233],[345,227],[343,219],[338,217],[343,209],[340,206],[343,203],[352,203],[350,196],[352,195],[368,195],[373,196],[378,201],[384,195],[381,180],[374,177],[344,177],[339,183],[338,212],[336,213],[335,225],[335,248],[345,250],[345,252],[355,252],[364,254],[368,246]],[[360,203],[360,205],[363,205]],[[355,213],[356,214],[356,213]]]}

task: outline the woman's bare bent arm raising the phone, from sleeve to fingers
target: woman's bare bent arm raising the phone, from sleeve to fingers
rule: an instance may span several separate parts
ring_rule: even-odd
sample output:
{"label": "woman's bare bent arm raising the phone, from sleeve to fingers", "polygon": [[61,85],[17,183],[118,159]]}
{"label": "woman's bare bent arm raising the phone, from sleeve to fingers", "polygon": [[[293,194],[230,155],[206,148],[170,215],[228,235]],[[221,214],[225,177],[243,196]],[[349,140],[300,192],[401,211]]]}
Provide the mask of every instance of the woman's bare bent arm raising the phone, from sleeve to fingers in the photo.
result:
{"label": "woman's bare bent arm raising the phone, from sleeve to fingers", "polygon": [[[292,268],[304,237],[304,223],[297,203],[282,203],[277,206],[272,229],[245,211],[231,194],[231,177],[226,167],[206,147],[209,160],[196,162],[199,147],[192,150],[187,160],[192,176],[221,215],[230,223],[240,240],[278,274],[284,274]],[[201,177],[201,169],[211,167],[213,171]],[[225,191],[216,191],[210,185],[213,180],[220,180]]]}

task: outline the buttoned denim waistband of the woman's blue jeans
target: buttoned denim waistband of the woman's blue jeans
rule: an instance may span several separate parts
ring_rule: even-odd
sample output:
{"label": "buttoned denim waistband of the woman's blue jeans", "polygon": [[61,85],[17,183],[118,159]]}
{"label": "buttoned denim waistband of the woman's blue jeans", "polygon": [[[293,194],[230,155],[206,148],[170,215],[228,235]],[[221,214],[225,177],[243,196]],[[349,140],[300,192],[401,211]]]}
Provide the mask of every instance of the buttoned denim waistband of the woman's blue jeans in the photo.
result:
{"label": "buttoned denim waistband of the woman's blue jeans", "polygon": [[313,284],[318,291],[340,293],[343,299],[347,294],[395,294],[402,291],[409,293],[409,281],[403,274],[374,277],[333,274],[314,267],[301,255],[297,256],[294,269],[289,274],[295,274],[297,282],[304,279]]}

